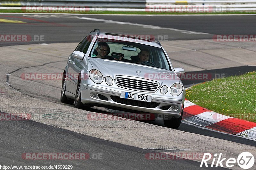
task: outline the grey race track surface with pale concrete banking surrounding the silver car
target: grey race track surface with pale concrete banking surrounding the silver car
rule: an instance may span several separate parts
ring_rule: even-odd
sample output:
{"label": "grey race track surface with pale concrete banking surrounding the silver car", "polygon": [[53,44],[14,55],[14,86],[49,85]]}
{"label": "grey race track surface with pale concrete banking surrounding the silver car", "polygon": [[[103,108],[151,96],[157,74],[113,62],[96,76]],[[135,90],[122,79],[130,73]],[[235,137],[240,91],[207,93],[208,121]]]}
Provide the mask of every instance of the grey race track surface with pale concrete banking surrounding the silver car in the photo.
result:
{"label": "grey race track surface with pale concrete banking surrounding the silver car", "polygon": [[[96,28],[103,32],[165,37],[161,43],[172,56],[173,65],[183,67],[186,72],[239,75],[256,70],[255,42],[223,43],[213,41],[212,37],[253,35],[255,26],[255,15],[0,14],[1,35],[28,35],[33,40],[0,41],[0,113],[31,115],[30,120],[0,121],[0,165],[199,169],[201,159],[150,160],[146,155],[222,152],[227,158],[237,158],[246,151],[256,155],[253,140],[185,123],[178,129],[169,129],[163,127],[161,119],[147,122],[90,120],[90,114],[120,112],[97,107],[76,109],[60,102],[61,80],[26,81],[20,77],[26,72],[61,73],[77,43]],[[35,37],[40,36],[43,39],[36,41]],[[186,80],[183,83],[189,86],[199,82],[202,81]],[[87,160],[25,160],[24,153],[88,153],[90,157]],[[95,155],[102,157],[96,159]],[[231,169],[239,168],[236,164]]]}

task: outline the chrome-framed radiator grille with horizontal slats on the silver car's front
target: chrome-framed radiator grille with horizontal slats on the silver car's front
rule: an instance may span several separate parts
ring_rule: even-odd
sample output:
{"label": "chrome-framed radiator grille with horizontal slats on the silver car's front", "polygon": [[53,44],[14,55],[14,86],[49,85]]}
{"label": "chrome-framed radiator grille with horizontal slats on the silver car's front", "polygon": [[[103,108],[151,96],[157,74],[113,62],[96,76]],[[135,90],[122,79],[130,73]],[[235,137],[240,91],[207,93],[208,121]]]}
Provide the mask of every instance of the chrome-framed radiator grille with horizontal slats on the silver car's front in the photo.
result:
{"label": "chrome-framed radiator grille with horizontal slats on the silver car's front", "polygon": [[142,92],[155,92],[158,88],[158,83],[150,80],[142,80],[133,77],[116,77],[117,86],[126,89],[132,89]]}

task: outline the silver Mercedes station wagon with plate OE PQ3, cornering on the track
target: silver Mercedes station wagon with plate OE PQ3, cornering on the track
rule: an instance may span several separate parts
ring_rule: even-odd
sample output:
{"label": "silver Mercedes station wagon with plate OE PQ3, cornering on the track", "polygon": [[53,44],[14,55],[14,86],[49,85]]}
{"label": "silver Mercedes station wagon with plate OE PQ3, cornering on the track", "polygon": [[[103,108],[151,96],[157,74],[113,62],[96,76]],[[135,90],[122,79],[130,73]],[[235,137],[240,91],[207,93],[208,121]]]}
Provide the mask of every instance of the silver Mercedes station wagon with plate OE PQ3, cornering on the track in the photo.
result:
{"label": "silver Mercedes station wagon with plate OE PQ3, cornering on the track", "polygon": [[185,88],[159,41],[92,30],[68,56],[60,100],[76,108],[151,113],[178,128]]}

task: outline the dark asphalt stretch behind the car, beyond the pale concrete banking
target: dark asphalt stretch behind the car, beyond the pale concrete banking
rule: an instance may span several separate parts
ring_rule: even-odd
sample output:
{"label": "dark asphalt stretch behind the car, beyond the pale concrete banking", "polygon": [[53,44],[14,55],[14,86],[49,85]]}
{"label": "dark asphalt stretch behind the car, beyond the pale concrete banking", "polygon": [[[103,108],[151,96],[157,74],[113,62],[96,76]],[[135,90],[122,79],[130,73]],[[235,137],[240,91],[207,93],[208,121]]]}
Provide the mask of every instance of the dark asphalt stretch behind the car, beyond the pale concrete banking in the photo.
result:
{"label": "dark asphalt stretch behind the car, beyond the pale concrete banking", "polygon": [[[46,18],[48,16],[48,18]],[[122,23],[116,24],[106,21],[93,21],[79,18],[97,18],[119,22],[129,22],[133,24],[148,25],[122,27]],[[110,16],[110,15],[13,15],[1,14],[1,18],[8,20],[19,20],[26,23],[13,24],[2,23],[2,34],[44,35],[45,43],[54,42],[78,42],[84,35],[95,28],[101,28],[103,32],[113,32],[131,35],[167,35],[168,40],[195,40],[212,39],[214,34],[254,34],[255,15],[250,16]],[[104,25],[104,26],[103,26]],[[121,26],[120,29],[116,25]],[[182,31],[168,31],[149,29],[152,26],[163,28],[173,28],[178,30],[188,30],[199,32],[182,33]],[[18,29],[17,29],[18,28]],[[125,29],[126,28],[126,29]],[[158,29],[159,30],[159,29]],[[203,34],[207,33],[207,34]],[[31,43],[31,42],[29,42]],[[32,42],[37,43],[37,42]],[[15,42],[0,43],[1,46],[20,44]]]}

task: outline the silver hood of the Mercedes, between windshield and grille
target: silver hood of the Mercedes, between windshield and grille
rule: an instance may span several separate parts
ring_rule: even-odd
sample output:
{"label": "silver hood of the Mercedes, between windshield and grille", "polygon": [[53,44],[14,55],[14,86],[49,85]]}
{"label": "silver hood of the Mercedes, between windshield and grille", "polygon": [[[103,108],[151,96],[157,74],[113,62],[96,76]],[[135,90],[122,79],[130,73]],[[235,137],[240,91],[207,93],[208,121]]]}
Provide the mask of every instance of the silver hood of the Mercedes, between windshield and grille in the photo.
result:
{"label": "silver hood of the Mercedes, between windshield and grille", "polygon": [[160,86],[167,85],[168,87],[174,83],[180,83],[180,78],[171,70],[108,59],[89,58],[89,61],[93,69],[99,70],[103,77],[110,76],[115,79],[116,75],[119,75],[144,78],[157,81]]}

